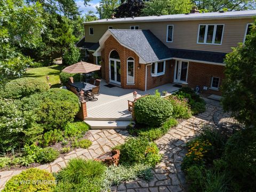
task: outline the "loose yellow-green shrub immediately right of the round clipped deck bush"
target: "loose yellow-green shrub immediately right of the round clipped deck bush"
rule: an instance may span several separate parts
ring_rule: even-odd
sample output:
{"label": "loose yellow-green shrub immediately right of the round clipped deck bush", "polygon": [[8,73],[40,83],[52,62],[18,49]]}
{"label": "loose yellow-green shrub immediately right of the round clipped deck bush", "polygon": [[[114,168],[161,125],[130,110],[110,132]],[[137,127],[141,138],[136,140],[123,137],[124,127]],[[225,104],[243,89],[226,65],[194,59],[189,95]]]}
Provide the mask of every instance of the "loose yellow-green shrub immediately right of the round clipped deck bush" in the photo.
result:
{"label": "loose yellow-green shrub immediately right of the round clipped deck bush", "polygon": [[179,99],[176,95],[170,95],[168,101],[173,106],[173,117],[187,119],[192,116],[190,106],[186,99]]}

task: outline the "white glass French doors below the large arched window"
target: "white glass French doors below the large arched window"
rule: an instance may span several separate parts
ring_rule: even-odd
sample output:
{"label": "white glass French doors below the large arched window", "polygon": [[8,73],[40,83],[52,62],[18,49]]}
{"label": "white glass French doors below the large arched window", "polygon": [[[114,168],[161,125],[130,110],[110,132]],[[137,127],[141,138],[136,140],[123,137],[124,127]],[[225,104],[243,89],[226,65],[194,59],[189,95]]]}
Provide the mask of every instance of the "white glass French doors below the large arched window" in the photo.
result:
{"label": "white glass French doors below the large arched window", "polygon": [[121,62],[109,59],[109,81],[121,85]]}

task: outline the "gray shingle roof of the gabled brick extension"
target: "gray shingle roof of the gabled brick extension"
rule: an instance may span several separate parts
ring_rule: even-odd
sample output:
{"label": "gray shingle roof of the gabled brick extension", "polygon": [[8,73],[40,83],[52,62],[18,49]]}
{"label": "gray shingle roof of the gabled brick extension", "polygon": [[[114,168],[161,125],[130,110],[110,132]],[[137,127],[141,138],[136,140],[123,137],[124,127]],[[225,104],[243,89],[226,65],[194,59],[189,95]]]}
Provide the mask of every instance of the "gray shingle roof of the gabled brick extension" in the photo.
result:
{"label": "gray shingle roof of the gabled brick extension", "polygon": [[150,30],[109,30],[121,44],[134,50],[146,63],[171,58],[169,48]]}

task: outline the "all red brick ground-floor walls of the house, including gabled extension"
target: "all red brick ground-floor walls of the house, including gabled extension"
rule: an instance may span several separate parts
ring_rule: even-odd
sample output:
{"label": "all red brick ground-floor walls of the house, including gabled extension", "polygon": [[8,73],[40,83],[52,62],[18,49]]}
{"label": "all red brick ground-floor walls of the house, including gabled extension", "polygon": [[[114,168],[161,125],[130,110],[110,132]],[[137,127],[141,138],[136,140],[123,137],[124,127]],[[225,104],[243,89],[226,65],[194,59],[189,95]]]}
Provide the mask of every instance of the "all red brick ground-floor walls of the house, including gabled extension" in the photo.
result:
{"label": "all red brick ground-floor walls of the house, including gabled extension", "polygon": [[[113,36],[110,36],[105,41],[104,49],[101,51],[101,71],[102,78],[106,79],[109,83],[109,55],[110,52],[116,50],[119,54],[121,61],[121,87],[124,89],[139,89],[145,91],[145,77],[147,68],[147,90],[154,87],[164,85],[166,83],[173,83],[174,79],[174,69],[175,60],[168,60],[165,63],[165,74],[157,77],[151,76],[151,65],[145,65],[139,63],[139,57],[133,51],[127,49],[126,47],[119,44]],[[134,59],[134,84],[127,84],[127,59],[132,57]],[[146,67],[147,66],[147,67]],[[220,84],[224,78],[223,74],[224,66],[210,65],[205,63],[189,62],[188,66],[188,86],[195,88],[197,85],[201,87],[203,91],[203,86],[207,86],[208,90],[203,91],[209,94],[218,94],[220,91],[215,91],[209,89],[211,87],[212,77],[220,77]]]}

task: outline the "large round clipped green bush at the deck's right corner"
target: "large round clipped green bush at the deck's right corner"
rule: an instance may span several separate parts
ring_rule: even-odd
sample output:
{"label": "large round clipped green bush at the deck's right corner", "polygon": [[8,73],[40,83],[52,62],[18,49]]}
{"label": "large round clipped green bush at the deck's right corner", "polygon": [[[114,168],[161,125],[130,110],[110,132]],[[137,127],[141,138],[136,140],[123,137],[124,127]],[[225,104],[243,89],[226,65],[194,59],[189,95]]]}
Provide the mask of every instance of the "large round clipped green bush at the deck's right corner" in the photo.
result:
{"label": "large round clipped green bush at the deck's right corner", "polygon": [[150,126],[159,126],[172,116],[172,104],[156,95],[149,95],[135,102],[136,121]]}

